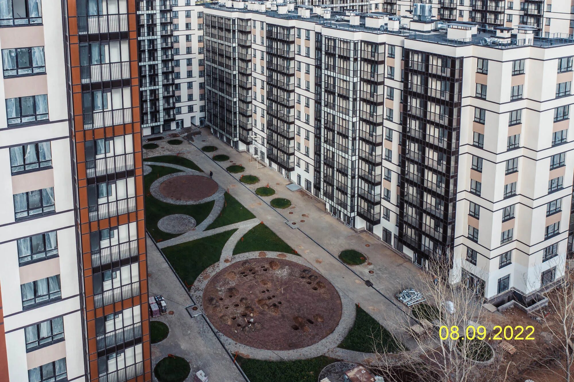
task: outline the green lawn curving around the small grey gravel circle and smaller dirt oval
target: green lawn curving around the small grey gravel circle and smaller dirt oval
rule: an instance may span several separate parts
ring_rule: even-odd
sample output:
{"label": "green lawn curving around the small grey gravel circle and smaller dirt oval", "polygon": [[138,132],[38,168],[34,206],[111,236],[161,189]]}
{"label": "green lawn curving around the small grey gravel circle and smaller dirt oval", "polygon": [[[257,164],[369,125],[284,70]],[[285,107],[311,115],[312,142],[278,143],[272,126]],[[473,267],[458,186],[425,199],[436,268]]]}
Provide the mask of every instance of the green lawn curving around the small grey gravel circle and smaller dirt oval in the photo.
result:
{"label": "green lawn curving around the small grey gravel circle and smaller dirt oval", "polygon": [[[161,157],[156,157],[161,158]],[[185,159],[185,158],[181,158]],[[191,162],[191,161],[190,161]],[[157,200],[149,193],[149,187],[152,185],[153,181],[162,176],[178,173],[180,170],[172,169],[171,167],[162,166],[150,166],[152,167],[152,172],[144,177],[145,184],[145,217],[146,217],[146,228],[148,229],[150,235],[156,241],[163,241],[172,239],[173,237],[179,236],[173,233],[166,233],[157,228],[157,222],[167,215],[172,215],[174,213],[183,213],[184,215],[189,215],[195,219],[197,224],[200,224],[205,220],[207,216],[210,215],[211,210],[214,207],[215,201],[206,202],[203,204],[195,205],[176,205]]]}

